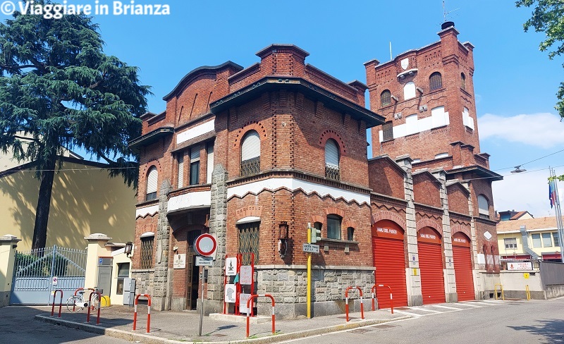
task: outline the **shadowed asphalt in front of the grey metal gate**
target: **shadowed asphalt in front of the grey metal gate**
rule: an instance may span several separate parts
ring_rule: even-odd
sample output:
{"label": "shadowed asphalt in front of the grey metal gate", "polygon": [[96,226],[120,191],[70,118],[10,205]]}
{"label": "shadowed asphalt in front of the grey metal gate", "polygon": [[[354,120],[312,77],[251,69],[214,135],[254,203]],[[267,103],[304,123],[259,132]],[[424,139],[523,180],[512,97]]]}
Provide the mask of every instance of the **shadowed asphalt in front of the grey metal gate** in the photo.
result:
{"label": "shadowed asphalt in front of the grey metal gate", "polygon": [[100,336],[95,333],[56,326],[34,319],[36,314],[44,312],[51,312],[51,307],[11,306],[0,308],[0,343],[131,343],[128,340]]}

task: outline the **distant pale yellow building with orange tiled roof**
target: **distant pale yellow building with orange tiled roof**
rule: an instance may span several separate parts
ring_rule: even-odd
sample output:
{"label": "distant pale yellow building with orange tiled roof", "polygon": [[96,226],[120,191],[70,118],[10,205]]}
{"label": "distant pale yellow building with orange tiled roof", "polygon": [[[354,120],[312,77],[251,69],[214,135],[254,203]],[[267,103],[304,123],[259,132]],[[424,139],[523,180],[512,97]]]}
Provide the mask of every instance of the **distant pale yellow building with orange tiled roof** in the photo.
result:
{"label": "distant pale yellow building with orange tiled roof", "polygon": [[556,217],[500,221],[496,229],[501,259],[561,261]]}

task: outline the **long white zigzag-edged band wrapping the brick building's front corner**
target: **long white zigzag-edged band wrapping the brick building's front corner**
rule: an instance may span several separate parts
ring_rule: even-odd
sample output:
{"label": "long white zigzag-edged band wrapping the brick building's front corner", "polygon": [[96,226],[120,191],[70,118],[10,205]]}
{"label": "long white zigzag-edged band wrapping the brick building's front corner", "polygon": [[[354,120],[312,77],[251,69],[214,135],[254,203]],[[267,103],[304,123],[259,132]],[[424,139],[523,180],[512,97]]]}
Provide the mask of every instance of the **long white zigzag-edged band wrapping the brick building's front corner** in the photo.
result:
{"label": "long white zigzag-edged band wrapping the brick building's front corner", "polygon": [[329,195],[335,199],[339,197],[343,197],[343,199],[345,199],[345,201],[347,202],[351,202],[354,200],[359,204],[362,203],[370,204],[369,195],[363,195],[357,192],[341,190],[338,188],[331,188],[326,185],[307,182],[305,180],[298,180],[294,178],[269,178],[265,180],[259,180],[254,183],[238,185],[233,188],[227,189],[227,197],[228,198],[232,196],[243,197],[244,195],[247,194],[247,192],[258,194],[262,190],[276,190],[279,188],[288,188],[288,190],[291,191],[302,189],[307,194],[312,192],[317,192],[317,194],[321,197],[325,197]]}

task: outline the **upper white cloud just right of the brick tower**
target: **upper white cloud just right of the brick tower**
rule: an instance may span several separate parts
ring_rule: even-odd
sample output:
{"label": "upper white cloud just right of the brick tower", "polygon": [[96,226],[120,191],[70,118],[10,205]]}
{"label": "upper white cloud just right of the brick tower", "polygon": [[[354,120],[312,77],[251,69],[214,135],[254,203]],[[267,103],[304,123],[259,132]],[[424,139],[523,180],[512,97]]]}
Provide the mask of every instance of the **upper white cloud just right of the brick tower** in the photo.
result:
{"label": "upper white cloud just right of the brick tower", "polygon": [[544,149],[564,145],[564,122],[551,113],[503,117],[486,113],[478,118],[480,139],[506,140]]}

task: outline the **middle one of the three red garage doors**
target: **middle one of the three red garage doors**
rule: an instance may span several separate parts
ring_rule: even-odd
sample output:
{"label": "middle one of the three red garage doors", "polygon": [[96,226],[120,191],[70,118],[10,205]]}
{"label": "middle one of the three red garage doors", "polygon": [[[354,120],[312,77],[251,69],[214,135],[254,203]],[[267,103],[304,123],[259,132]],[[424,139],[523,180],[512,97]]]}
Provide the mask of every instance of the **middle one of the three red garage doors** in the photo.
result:
{"label": "middle one of the three red garage doors", "polygon": [[417,233],[423,305],[446,302],[441,235],[430,227]]}

